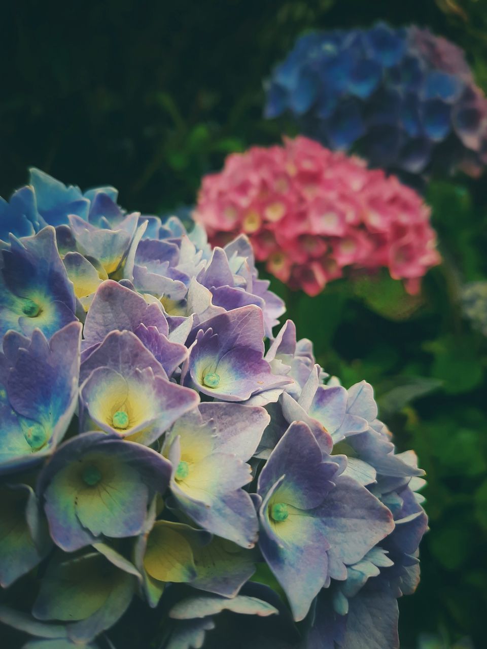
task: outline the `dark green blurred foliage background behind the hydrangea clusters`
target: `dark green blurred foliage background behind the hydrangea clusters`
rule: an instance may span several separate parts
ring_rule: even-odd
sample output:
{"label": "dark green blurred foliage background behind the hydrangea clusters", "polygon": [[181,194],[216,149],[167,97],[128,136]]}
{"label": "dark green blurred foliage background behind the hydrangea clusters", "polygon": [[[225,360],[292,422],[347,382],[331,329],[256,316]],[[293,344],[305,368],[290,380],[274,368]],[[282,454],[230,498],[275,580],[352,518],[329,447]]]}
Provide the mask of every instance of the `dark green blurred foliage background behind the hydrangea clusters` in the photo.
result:
{"label": "dark green blurred foliage background behind the hydrangea clusters", "polygon": [[[230,151],[293,134],[262,119],[262,79],[305,29],[418,23],[466,49],[487,87],[484,0],[131,0],[0,9],[0,195],[36,165],[82,188],[113,184],[129,209],[193,204]],[[401,637],[484,645],[487,611],[487,346],[462,316],[463,282],[486,278],[487,183],[427,190],[445,264],[411,300],[392,280],[286,296],[300,336],[345,385],[367,378],[400,450],[427,469],[423,580],[401,601]],[[384,648],[386,649],[386,648]]]}

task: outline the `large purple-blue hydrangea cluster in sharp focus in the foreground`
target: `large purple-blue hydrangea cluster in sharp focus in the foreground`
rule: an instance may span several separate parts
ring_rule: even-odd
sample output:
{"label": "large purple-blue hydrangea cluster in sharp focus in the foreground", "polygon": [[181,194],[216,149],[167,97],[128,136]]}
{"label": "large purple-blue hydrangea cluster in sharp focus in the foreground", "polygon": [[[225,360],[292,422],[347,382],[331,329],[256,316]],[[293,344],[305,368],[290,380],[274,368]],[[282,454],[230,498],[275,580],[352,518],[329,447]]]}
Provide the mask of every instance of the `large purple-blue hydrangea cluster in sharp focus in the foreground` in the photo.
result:
{"label": "large purple-blue hydrangea cluster in sharp focus in the foreground", "polygon": [[34,169],[3,203],[0,621],[112,646],[137,594],[165,649],[397,647],[414,453],[292,321],[273,337],[245,236],[210,250],[116,200]]}

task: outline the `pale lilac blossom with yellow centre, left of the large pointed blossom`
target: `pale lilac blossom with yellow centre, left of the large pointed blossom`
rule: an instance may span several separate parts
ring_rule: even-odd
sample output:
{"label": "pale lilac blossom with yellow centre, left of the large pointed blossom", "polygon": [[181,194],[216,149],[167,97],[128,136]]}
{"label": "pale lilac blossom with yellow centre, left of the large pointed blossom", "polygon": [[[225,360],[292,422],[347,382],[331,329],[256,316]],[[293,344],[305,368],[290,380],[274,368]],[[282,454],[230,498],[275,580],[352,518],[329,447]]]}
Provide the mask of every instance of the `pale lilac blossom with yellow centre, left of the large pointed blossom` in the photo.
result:
{"label": "pale lilac blossom with yellow centre, left of the large pointed blossom", "polygon": [[208,532],[247,548],[255,545],[258,522],[241,489],[252,480],[245,462],[268,422],[260,406],[203,403],[173,424],[163,450],[179,508]]}

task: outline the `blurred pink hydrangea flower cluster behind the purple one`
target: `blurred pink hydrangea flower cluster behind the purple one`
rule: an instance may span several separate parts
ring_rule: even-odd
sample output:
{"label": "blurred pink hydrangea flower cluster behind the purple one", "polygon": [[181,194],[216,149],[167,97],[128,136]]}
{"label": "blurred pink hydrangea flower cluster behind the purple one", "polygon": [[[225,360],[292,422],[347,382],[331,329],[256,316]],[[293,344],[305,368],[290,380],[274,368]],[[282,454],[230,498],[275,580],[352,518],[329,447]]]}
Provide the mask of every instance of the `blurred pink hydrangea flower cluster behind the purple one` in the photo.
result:
{"label": "blurred pink hydrangea flower cluster behind the purple one", "polygon": [[417,293],[440,261],[429,215],[396,177],[304,137],[228,156],[203,178],[195,210],[212,243],[245,232],[269,273],[308,295],[345,267],[384,266]]}

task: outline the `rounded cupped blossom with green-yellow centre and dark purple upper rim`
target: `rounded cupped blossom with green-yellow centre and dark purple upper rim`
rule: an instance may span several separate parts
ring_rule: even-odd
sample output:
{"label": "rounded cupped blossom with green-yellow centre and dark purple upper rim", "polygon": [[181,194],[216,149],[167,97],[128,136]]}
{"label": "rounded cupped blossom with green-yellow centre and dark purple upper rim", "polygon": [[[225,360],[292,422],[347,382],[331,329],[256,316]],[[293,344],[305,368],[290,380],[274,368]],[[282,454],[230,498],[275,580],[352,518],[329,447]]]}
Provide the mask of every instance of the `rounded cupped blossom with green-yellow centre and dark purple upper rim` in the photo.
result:
{"label": "rounded cupped blossom with green-yellow centre and dark purple upper rim", "polygon": [[138,535],[170,473],[160,454],[116,435],[73,437],[45,465],[37,485],[53,541],[73,552],[103,537]]}

